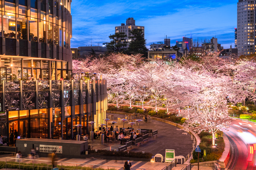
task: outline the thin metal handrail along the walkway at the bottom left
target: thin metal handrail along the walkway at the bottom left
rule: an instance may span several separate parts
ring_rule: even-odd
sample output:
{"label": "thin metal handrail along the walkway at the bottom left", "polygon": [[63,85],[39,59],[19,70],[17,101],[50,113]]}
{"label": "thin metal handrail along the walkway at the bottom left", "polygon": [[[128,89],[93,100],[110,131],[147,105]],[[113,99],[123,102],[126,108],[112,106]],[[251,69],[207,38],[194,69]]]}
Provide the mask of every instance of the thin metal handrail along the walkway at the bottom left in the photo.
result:
{"label": "thin metal handrail along the walkway at the bottom left", "polygon": [[[5,158],[5,168],[7,168],[7,159],[15,159],[15,160],[32,160],[32,165],[28,165],[28,164],[22,164],[22,166],[33,166],[33,170],[34,170],[34,161],[40,161],[40,162],[47,162],[47,166],[37,166],[37,167],[44,167],[47,168],[48,170],[48,162],[52,162],[49,160],[38,160],[38,159],[24,159],[24,158]],[[78,165],[91,165],[92,169],[93,166],[105,166],[105,167],[115,167],[115,168],[123,168],[122,166],[109,166],[109,165],[98,165],[98,164],[82,164],[82,163],[74,163],[74,162],[59,162],[59,161],[55,161],[56,163],[61,163],[61,167],[62,167],[62,163],[67,163],[67,164],[76,164],[76,170],[80,170],[78,169]],[[18,165],[18,164],[9,164],[9,165]],[[51,167],[49,167],[51,168]],[[132,168],[131,169],[139,169],[139,170],[146,170],[145,168]],[[65,169],[70,169],[70,170],[74,170],[72,168],[65,168]],[[19,170],[20,170],[20,161],[19,161]]]}

